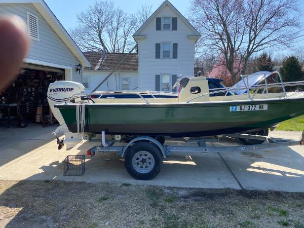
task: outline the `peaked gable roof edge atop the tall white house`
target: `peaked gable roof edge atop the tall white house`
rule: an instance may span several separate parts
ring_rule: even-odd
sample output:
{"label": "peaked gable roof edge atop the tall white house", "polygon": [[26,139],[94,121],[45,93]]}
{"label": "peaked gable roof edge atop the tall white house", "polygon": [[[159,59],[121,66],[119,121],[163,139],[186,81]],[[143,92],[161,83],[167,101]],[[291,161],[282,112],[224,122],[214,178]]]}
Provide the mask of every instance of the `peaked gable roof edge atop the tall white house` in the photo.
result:
{"label": "peaked gable roof edge atop the tall white house", "polygon": [[163,4],[137,29],[133,37],[138,36],[142,29],[144,29],[144,27],[147,26],[147,24],[149,24],[151,20],[153,20],[153,18],[155,18],[165,6],[170,7],[178,15],[178,17],[194,32],[196,36],[201,36],[198,30],[196,30],[196,28],[193,27],[193,25],[168,0],[165,0],[165,2],[163,2]]}

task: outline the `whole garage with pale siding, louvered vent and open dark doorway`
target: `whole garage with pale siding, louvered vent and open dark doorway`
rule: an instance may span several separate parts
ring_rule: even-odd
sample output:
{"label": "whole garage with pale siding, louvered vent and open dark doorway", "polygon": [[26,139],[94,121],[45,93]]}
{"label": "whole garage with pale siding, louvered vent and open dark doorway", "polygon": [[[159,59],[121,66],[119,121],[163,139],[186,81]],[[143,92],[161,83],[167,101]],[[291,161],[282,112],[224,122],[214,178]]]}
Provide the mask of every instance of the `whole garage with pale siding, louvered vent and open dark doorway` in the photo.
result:
{"label": "whole garage with pale siding, louvered vent and open dark doorway", "polygon": [[0,91],[0,126],[53,125],[47,101],[50,83],[81,83],[82,69],[91,65],[44,1],[1,2],[0,14],[23,19],[30,40],[16,80]]}

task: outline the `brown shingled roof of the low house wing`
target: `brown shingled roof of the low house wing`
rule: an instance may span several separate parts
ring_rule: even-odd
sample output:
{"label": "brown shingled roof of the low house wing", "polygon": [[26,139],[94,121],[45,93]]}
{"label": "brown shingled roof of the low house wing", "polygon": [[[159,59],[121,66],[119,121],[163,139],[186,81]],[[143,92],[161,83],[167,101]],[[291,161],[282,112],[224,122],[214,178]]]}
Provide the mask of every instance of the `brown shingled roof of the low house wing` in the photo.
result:
{"label": "brown shingled roof of the low house wing", "polygon": [[105,53],[104,59],[102,59],[102,52],[84,52],[84,55],[91,63],[91,67],[85,67],[85,70],[113,70],[126,55],[128,55],[128,57],[117,70],[138,70],[137,53]]}

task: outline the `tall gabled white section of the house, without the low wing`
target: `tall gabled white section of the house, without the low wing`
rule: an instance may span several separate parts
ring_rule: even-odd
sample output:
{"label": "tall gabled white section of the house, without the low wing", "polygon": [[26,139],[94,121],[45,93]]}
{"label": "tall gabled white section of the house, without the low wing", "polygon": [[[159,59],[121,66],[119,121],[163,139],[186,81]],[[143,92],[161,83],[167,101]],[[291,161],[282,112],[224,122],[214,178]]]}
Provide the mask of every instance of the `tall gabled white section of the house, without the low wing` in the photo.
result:
{"label": "tall gabled white section of the house, without the low wing", "polygon": [[171,91],[176,77],[194,74],[200,33],[166,0],[134,33],[139,90]]}

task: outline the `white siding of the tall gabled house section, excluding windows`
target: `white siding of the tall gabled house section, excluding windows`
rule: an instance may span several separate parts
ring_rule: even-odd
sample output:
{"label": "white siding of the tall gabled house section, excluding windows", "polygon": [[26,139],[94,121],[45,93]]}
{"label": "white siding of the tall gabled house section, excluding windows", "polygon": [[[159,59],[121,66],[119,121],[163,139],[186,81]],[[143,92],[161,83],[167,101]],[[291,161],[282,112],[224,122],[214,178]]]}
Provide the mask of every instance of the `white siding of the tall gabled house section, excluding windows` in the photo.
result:
{"label": "white siding of the tall gabled house section, excluding windows", "polygon": [[[157,31],[156,17],[177,17],[176,31]],[[162,73],[181,74],[182,77],[194,74],[195,41],[188,40],[188,35],[195,35],[191,29],[165,6],[162,11],[140,32],[146,35],[138,41],[139,90],[155,90],[155,75]],[[177,59],[156,59],[155,44],[162,42],[178,43]]]}

